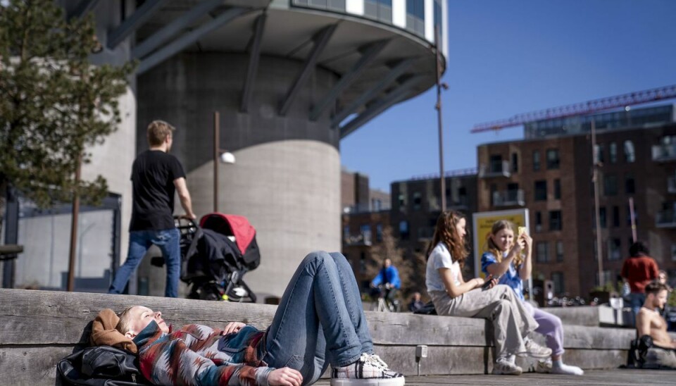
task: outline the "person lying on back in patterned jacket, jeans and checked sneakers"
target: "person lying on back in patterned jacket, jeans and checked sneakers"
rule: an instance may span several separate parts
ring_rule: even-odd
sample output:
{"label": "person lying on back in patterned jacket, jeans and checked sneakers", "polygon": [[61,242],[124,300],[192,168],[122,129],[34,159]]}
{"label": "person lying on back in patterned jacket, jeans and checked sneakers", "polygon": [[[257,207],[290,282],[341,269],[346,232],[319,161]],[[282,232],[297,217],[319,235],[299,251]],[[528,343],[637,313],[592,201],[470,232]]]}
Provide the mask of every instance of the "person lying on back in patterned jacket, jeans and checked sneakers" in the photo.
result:
{"label": "person lying on back in patterned jacket, jeans and checked sneakers", "polygon": [[303,259],[265,331],[237,322],[172,330],[144,306],[123,311],[116,329],[137,345],[142,374],[156,385],[308,385],[329,364],[331,385],[404,384],[373,352],[357,282],[339,253]]}

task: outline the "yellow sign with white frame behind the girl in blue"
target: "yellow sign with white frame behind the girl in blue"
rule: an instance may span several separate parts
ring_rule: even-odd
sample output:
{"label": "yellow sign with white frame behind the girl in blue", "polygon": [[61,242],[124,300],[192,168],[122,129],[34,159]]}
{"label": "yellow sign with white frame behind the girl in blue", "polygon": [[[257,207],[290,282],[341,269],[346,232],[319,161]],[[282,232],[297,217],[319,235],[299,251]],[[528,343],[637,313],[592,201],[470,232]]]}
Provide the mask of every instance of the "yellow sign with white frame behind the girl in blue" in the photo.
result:
{"label": "yellow sign with white frame behind the girl in blue", "polygon": [[474,229],[474,275],[484,278],[481,272],[481,255],[486,249],[486,239],[491,233],[493,224],[498,220],[509,220],[518,227],[525,227],[526,232],[530,234],[528,226],[528,209],[511,209],[508,211],[480,212],[472,215]]}

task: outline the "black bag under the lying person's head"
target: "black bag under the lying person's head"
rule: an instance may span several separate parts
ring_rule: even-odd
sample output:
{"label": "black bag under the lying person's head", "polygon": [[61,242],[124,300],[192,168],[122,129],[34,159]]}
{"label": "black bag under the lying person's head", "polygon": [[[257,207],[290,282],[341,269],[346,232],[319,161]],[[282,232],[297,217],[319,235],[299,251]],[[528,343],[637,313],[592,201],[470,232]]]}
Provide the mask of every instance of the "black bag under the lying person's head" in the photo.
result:
{"label": "black bag under the lying person's head", "polygon": [[111,346],[87,347],[66,356],[56,366],[64,385],[147,385],[138,357]]}

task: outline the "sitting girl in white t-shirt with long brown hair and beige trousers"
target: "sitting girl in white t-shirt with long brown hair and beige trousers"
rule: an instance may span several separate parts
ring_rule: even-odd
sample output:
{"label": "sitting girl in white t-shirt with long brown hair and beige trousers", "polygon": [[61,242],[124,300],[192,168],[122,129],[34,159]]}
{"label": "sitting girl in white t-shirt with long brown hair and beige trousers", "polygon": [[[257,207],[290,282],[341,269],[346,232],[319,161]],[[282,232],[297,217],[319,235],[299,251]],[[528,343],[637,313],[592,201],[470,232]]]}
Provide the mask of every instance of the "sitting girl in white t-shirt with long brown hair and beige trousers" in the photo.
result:
{"label": "sitting girl in white t-shirt with long brown hair and beige trousers", "polygon": [[427,293],[439,315],[491,320],[496,351],[493,373],[520,375],[522,369],[514,363],[515,355],[544,359],[551,349],[527,339],[538,325],[510,287],[497,285],[490,278],[485,286],[482,278],[465,282],[461,273],[468,256],[465,225],[460,212],[439,215],[427,248]]}

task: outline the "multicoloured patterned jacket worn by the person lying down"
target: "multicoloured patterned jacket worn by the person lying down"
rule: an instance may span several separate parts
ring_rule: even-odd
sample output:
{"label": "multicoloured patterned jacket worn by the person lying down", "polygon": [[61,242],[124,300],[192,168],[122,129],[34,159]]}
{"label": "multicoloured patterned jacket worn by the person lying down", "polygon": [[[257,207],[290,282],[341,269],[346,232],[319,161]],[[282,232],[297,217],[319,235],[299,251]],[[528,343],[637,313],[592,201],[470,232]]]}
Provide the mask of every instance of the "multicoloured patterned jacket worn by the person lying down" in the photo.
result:
{"label": "multicoloured patterned jacket worn by the person lying down", "polygon": [[246,325],[222,336],[206,325],[163,333],[152,321],[134,343],[141,372],[155,385],[268,385],[274,368],[260,360],[266,332]]}

